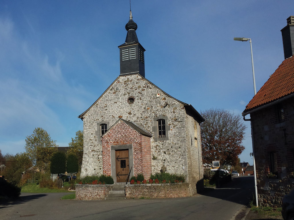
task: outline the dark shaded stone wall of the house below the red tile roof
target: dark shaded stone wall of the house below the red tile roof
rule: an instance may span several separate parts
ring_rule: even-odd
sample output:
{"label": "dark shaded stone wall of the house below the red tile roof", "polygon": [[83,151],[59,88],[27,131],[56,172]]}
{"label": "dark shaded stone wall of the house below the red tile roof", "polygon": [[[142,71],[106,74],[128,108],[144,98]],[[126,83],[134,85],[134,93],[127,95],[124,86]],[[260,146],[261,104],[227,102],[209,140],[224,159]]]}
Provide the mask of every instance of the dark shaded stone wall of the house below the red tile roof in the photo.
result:
{"label": "dark shaded stone wall of the house below the red tile roof", "polygon": [[[285,119],[279,121],[278,106],[272,105],[250,114],[255,151],[257,187],[260,205],[280,204],[269,199],[273,192],[279,192],[278,184],[270,184],[270,153],[274,153],[275,174],[278,182],[288,181],[294,171],[294,98],[278,103],[282,106]],[[278,196],[278,195],[277,195]],[[263,199],[265,198],[265,201]],[[277,198],[281,199],[280,196]],[[268,202],[270,201],[270,202]]]}

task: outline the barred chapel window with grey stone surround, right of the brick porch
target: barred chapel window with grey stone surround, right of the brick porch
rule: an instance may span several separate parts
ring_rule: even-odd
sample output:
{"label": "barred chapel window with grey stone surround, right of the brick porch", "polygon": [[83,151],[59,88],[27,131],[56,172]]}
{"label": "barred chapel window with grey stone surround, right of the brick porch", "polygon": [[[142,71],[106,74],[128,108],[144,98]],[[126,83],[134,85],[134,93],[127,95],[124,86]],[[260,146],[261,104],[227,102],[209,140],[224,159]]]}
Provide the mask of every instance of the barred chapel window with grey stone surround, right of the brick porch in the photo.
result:
{"label": "barred chapel window with grey stone surround, right of the brick porch", "polygon": [[168,131],[171,130],[171,126],[168,125],[167,116],[159,115],[153,118],[153,123],[152,131],[154,132],[154,141],[168,140]]}

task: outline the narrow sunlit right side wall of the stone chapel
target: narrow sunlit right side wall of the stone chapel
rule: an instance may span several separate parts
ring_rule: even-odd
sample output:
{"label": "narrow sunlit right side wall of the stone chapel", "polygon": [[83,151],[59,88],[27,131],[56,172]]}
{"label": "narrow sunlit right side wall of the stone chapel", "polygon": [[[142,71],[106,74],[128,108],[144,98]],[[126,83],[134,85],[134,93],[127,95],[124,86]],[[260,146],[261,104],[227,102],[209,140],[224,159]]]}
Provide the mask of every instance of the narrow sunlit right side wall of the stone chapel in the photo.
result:
{"label": "narrow sunlit right side wall of the stone chapel", "polygon": [[196,184],[203,180],[203,163],[201,150],[200,125],[192,116],[186,114],[186,146],[188,162],[188,181],[192,194],[203,188],[203,184]]}

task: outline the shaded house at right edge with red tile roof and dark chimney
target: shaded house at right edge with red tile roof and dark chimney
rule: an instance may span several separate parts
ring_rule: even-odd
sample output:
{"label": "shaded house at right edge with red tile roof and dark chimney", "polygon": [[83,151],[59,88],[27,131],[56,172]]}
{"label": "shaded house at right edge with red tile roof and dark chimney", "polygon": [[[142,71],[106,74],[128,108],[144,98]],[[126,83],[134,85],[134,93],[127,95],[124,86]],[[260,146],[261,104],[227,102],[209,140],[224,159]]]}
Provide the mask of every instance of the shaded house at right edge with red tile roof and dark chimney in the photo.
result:
{"label": "shaded house at right edge with red tile roof and dark chimney", "polygon": [[250,114],[258,202],[280,206],[294,187],[294,16],[283,28],[285,60],[246,106]]}

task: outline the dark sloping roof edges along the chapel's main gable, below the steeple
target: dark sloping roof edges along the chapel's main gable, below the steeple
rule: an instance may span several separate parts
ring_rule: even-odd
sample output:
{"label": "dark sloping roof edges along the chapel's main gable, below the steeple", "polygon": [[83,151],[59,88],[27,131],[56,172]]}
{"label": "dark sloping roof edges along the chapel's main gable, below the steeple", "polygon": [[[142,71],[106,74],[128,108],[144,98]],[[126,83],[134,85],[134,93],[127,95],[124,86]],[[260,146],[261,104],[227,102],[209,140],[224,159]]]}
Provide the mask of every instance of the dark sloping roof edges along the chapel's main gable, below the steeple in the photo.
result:
{"label": "dark sloping roof edges along the chapel's main gable, below the steeple", "polygon": [[[191,115],[196,121],[198,121],[198,123],[201,123],[203,121],[205,121],[205,119],[201,116],[201,114],[199,114],[198,111],[196,111],[196,109],[194,109],[194,107],[191,104],[187,104],[185,102],[182,102],[174,97],[172,97],[171,95],[167,94],[166,92],[164,92],[162,89],[160,89],[158,86],[156,86],[155,84],[153,84],[152,82],[150,82],[148,79],[146,79],[145,77],[141,76],[140,74],[136,73],[134,75],[139,75],[140,77],[142,77],[143,79],[145,79],[147,82],[149,82],[151,85],[155,86],[156,88],[158,88],[159,90],[161,90],[164,94],[166,94],[168,97],[171,97],[172,99],[182,103],[186,109],[187,114]],[[84,111],[82,114],[80,114],[78,116],[78,118],[83,120],[83,116],[84,114],[86,114],[96,103],[97,101],[99,101],[99,99],[101,99],[101,97],[107,92],[108,89],[110,89],[110,87],[116,82],[116,80],[119,77],[123,77],[123,76],[118,76],[112,83],[111,85],[102,93],[102,95],[86,110]]]}

